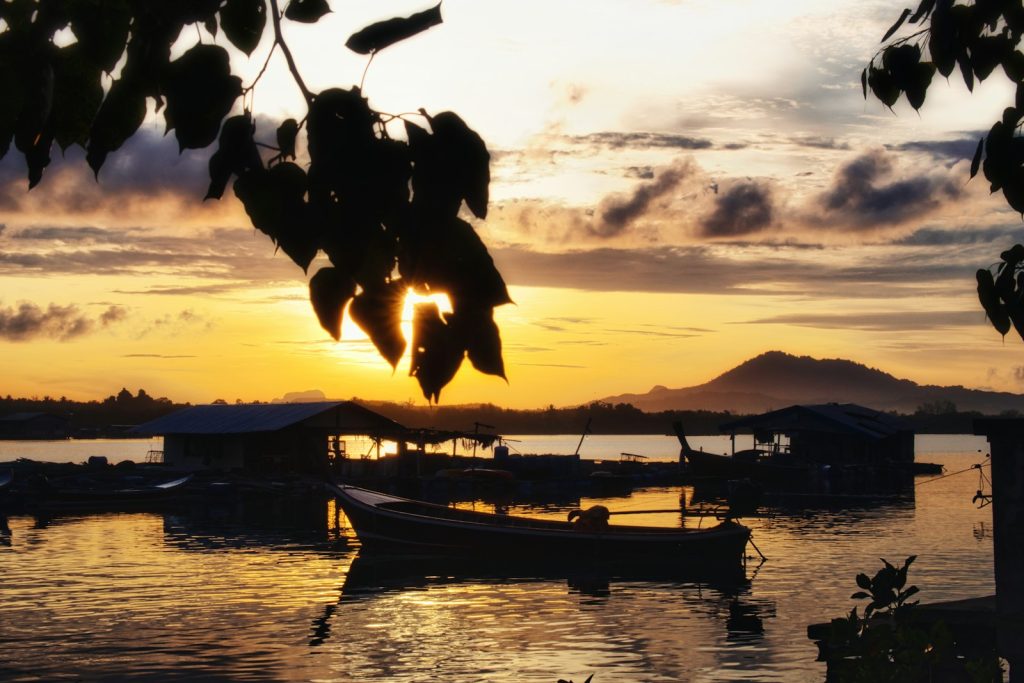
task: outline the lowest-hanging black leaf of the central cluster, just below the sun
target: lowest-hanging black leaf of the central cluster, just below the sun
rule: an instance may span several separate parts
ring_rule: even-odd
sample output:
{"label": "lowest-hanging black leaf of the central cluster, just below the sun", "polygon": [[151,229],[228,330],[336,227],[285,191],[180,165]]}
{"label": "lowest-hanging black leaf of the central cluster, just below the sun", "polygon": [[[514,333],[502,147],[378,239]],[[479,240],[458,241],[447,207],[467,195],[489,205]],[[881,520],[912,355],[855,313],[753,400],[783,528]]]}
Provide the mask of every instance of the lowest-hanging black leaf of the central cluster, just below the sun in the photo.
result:
{"label": "lowest-hanging black leaf of the central cluster, just below the sun", "polygon": [[441,318],[437,304],[417,304],[413,308],[413,357],[409,374],[420,383],[427,400],[440,399],[441,389],[459,372],[464,355],[458,336]]}

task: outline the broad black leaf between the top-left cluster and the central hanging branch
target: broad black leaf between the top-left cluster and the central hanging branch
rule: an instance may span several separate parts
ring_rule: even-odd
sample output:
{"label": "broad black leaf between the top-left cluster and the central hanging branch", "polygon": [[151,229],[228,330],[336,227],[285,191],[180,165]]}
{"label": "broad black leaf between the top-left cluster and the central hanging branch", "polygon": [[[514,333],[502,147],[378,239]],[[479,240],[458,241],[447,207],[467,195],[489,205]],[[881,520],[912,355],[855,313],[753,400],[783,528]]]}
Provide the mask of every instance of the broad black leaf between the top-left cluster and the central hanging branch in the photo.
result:
{"label": "broad black leaf between the top-left cluster and the central hanging branch", "polygon": [[242,94],[242,80],[231,75],[227,51],[197,45],[172,61],[164,79],[167,129],[181,150],[205,147],[217,137],[220,122]]}

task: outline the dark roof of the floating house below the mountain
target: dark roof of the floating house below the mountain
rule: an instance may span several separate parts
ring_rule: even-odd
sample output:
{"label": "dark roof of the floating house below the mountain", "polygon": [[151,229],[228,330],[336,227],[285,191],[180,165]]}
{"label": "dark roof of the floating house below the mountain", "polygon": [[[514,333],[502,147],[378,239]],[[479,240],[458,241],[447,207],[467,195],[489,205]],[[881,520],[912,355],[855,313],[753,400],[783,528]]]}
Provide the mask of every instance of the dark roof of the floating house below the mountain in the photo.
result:
{"label": "dark roof of the floating house below the mountain", "polygon": [[751,429],[783,433],[803,431],[854,434],[869,440],[882,439],[899,432],[912,431],[906,421],[894,415],[856,403],[791,405],[764,415],[734,420],[721,425],[719,429],[721,431]]}

